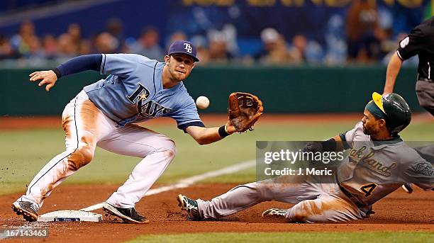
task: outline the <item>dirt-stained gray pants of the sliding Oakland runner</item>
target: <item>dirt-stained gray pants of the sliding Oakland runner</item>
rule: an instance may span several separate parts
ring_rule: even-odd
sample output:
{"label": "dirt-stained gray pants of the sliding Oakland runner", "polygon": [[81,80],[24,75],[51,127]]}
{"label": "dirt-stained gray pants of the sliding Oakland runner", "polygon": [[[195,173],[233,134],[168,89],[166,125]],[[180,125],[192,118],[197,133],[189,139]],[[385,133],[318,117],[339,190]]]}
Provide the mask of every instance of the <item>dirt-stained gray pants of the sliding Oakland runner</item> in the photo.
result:
{"label": "dirt-stained gray pants of the sliding Oakland runner", "polygon": [[340,191],[338,183],[314,179],[285,183],[284,176],[235,186],[221,196],[198,199],[197,203],[201,217],[219,219],[269,200],[295,204],[286,213],[293,222],[345,222],[366,216]]}

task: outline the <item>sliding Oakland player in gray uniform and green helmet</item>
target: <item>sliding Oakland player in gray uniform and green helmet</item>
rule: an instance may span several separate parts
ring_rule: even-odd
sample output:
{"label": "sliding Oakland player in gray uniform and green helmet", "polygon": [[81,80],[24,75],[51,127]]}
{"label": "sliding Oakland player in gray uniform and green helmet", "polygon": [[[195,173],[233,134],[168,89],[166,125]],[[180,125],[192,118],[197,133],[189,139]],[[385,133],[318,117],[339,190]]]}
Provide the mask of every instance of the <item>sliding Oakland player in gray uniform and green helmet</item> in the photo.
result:
{"label": "sliding Oakland player in gray uniform and green helmet", "polygon": [[291,222],[345,222],[369,217],[372,205],[405,182],[432,190],[434,167],[399,137],[411,120],[408,104],[398,94],[372,95],[362,120],[325,142],[309,142],[306,152],[350,149],[333,176],[297,174],[235,186],[211,200],[177,200],[191,220],[219,219],[268,200],[292,203],[271,208]]}

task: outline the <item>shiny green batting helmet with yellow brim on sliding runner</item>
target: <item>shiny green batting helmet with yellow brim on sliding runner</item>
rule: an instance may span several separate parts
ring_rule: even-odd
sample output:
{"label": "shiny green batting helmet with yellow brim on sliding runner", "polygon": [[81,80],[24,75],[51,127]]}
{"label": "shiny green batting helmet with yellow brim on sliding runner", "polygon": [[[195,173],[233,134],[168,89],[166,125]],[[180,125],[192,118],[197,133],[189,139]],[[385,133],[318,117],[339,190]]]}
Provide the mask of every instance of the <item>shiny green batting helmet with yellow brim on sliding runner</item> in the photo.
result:
{"label": "shiny green batting helmet with yellow brim on sliding runner", "polygon": [[386,114],[386,126],[391,134],[401,132],[410,124],[410,106],[399,94],[386,94],[382,96],[377,92],[372,94],[374,103]]}

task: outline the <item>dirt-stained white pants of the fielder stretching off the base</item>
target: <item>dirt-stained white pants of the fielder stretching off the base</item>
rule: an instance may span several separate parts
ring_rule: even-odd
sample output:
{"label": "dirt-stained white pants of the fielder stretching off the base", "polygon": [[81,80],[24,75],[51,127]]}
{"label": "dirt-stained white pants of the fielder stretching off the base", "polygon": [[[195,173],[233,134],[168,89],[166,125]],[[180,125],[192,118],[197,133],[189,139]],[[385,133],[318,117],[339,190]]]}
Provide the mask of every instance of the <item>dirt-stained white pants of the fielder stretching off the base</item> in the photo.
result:
{"label": "dirt-stained white pants of the fielder stretching off the base", "polygon": [[119,208],[133,208],[161,176],[176,154],[174,142],[138,125],[121,127],[104,115],[81,91],[62,113],[66,151],[57,154],[33,178],[19,200],[40,206],[52,190],[91,162],[96,146],[116,154],[143,158],[128,180],[107,200]]}

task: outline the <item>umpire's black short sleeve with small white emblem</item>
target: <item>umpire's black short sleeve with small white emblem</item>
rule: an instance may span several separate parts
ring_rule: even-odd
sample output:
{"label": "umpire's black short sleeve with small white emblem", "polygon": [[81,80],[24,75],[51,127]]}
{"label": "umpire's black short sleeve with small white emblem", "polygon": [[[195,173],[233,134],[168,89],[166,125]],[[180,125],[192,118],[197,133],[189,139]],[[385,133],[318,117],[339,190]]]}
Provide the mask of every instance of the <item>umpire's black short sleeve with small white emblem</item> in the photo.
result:
{"label": "umpire's black short sleeve with small white emblem", "polygon": [[401,60],[407,60],[408,58],[413,57],[418,54],[420,48],[425,45],[424,39],[425,36],[421,28],[413,28],[411,33],[399,42],[396,54],[398,54]]}

